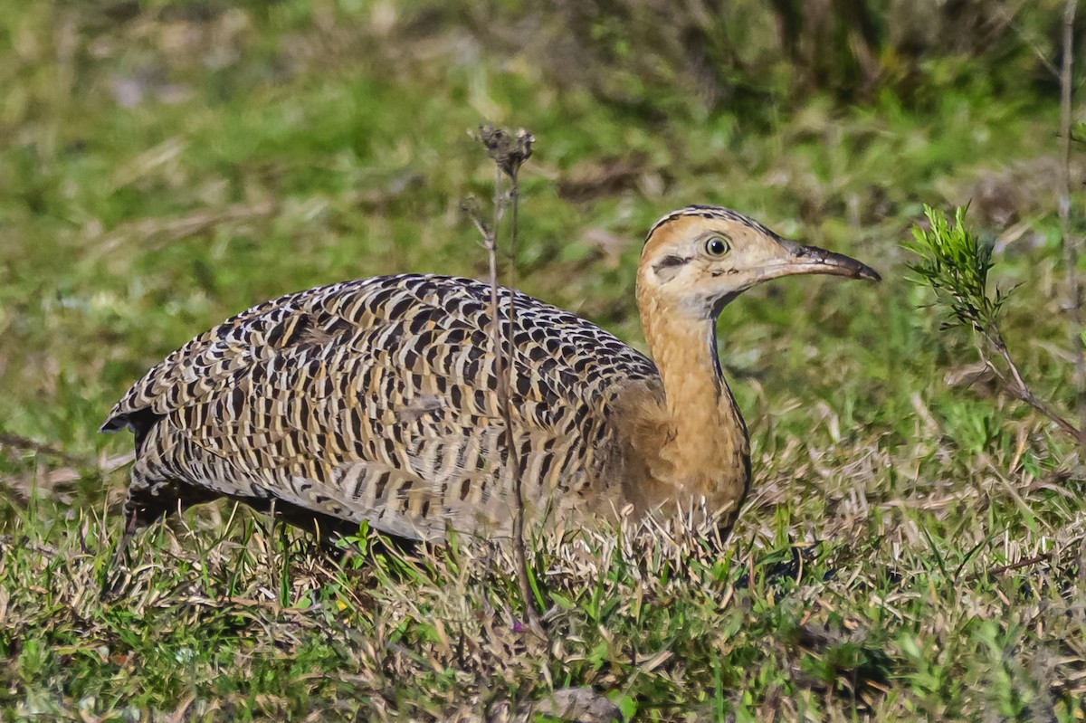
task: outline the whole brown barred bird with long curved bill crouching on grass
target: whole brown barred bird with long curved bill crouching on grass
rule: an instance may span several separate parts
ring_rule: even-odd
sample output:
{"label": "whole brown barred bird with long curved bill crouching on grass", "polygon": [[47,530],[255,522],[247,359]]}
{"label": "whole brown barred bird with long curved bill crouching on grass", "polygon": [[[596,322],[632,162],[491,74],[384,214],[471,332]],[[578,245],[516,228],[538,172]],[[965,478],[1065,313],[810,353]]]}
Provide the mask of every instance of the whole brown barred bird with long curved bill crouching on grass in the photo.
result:
{"label": "whole brown barred bird with long curved bill crouching on grass", "polygon": [[320,534],[367,524],[438,544],[507,538],[518,507],[543,527],[696,508],[727,534],[750,444],[716,321],[744,291],[803,274],[880,280],[692,205],[653,225],[641,253],[649,356],[466,278],[380,276],[258,304],[169,354],[109,413],[102,431],[135,432],[125,534],[220,497]]}

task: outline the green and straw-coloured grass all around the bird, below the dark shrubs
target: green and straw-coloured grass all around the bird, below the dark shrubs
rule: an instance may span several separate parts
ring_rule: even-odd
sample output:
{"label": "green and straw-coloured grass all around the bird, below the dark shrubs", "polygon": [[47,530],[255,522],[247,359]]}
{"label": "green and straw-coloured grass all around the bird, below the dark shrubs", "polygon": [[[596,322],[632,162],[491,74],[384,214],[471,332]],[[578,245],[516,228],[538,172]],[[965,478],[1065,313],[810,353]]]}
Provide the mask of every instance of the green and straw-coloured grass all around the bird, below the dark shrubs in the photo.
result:
{"label": "green and straw-coloured grass all around the bird, below the dark shrubs", "polygon": [[[1072,398],[1055,93],[993,97],[980,73],[923,112],[645,117],[455,27],[404,36],[381,4],[126,7],[0,2],[4,721],[514,720],[571,686],[627,720],[1086,718],[1079,462],[1028,409],[944,383],[974,353],[901,246],[922,204],[973,200],[995,281],[1020,284],[1007,343]],[[484,276],[457,212],[490,191],[483,118],[539,139],[519,286],[634,345],[640,241],[687,203],[886,278],[725,310],[756,470],[725,551],[690,530],[539,541],[546,643],[501,555],[336,559],[224,505],[141,534],[108,579],[131,442],[97,428],[127,384],[288,291]]]}

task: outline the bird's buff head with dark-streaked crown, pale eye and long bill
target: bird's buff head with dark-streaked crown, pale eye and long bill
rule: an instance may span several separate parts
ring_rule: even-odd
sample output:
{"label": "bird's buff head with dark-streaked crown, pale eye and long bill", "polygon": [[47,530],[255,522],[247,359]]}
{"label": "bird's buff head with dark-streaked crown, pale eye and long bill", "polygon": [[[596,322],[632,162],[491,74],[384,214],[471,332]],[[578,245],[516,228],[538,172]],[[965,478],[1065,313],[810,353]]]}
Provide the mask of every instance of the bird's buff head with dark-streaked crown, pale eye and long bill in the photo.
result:
{"label": "bird's buff head with dark-streaked crown, pale eye and long bill", "polygon": [[648,232],[637,295],[669,314],[712,319],[747,289],[797,274],[881,280],[855,258],[782,239],[734,211],[689,206],[668,214]]}

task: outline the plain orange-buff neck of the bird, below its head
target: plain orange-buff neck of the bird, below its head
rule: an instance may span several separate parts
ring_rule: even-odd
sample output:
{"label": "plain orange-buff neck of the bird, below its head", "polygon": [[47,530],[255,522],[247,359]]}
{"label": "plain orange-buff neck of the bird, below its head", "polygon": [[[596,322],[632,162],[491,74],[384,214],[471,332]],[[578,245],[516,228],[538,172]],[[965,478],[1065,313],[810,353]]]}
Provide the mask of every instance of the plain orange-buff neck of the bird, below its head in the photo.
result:
{"label": "plain orange-buff neck of the bird, below its head", "polygon": [[[645,339],[664,383],[665,430],[647,455],[652,497],[682,507],[704,497],[710,511],[734,519],[749,479],[746,426],[717,358],[716,322],[677,314],[653,299],[641,299]],[[651,500],[649,500],[651,502]],[[661,500],[664,502],[664,500]]]}

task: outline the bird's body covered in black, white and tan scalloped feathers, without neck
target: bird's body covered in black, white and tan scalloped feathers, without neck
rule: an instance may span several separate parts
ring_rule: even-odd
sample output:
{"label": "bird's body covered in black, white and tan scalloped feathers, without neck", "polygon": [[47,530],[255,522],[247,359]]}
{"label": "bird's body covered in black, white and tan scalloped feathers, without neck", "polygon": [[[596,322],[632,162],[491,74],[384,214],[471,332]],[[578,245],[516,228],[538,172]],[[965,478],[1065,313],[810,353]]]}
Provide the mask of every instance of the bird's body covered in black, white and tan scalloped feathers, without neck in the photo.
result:
{"label": "bird's body covered in black, white and tan scalloped feathers, without neck", "polygon": [[[619,454],[611,404],[655,384],[656,368],[584,319],[514,299],[526,499],[536,517],[599,504]],[[226,495],[412,538],[506,533],[514,470],[491,317],[485,283],[391,276],[289,294],[193,339],[103,426],[137,434],[130,523]]]}

